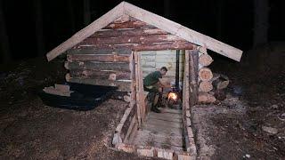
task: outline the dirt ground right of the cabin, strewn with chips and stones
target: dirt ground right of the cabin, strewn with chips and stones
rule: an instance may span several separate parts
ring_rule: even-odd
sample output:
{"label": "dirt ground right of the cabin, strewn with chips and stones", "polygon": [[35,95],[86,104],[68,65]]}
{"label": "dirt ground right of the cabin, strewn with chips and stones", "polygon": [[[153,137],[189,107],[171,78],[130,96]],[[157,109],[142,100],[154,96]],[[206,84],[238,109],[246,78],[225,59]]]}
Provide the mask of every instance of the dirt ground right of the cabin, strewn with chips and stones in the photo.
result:
{"label": "dirt ground right of the cabin, strewn with chips and stones", "polygon": [[240,63],[215,61],[231,82],[226,100],[191,108],[199,157],[285,159],[284,61],[285,44],[245,52]]}

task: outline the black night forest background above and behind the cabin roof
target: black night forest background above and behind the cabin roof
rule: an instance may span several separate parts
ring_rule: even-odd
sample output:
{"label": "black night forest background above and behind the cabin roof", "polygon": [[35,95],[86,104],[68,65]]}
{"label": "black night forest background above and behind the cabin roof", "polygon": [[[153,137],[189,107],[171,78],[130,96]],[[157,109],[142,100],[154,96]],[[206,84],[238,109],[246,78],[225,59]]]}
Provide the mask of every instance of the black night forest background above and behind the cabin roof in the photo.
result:
{"label": "black night forest background above and behind the cabin roof", "polygon": [[[0,0],[0,63],[42,56],[117,0]],[[284,0],[127,0],[243,51],[285,41]]]}

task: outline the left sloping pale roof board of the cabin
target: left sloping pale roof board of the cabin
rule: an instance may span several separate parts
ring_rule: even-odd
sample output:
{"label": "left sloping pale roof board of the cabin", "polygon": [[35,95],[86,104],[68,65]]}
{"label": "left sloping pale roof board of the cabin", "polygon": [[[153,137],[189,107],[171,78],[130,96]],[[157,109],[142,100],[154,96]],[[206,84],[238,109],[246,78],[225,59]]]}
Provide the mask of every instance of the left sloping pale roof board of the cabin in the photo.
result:
{"label": "left sloping pale roof board of the cabin", "polygon": [[123,14],[124,3],[118,4],[110,12],[105,13],[99,19],[92,22],[87,27],[78,31],[74,36],[71,36],[67,41],[63,42],[59,46],[55,47],[52,51],[46,54],[48,61],[53,60],[55,57],[60,55],[62,52],[66,52],[69,48],[83,41],[86,37],[91,36],[94,32],[107,26],[113,20],[118,19]]}

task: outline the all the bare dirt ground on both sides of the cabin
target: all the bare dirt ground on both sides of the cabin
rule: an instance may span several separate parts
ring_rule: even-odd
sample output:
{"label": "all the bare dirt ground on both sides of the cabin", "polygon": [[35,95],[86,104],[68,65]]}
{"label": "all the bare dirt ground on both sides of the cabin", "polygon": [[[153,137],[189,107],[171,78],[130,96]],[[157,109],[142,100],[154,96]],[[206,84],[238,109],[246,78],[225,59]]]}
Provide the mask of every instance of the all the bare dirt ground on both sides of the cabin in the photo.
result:
{"label": "all the bare dirt ground on both sides of the cabin", "polygon": [[[285,159],[285,44],[214,57],[231,79],[227,99],[191,108],[200,159]],[[151,159],[109,147],[126,103],[79,112],[45,106],[44,86],[64,82],[63,59],[0,66],[0,159]]]}

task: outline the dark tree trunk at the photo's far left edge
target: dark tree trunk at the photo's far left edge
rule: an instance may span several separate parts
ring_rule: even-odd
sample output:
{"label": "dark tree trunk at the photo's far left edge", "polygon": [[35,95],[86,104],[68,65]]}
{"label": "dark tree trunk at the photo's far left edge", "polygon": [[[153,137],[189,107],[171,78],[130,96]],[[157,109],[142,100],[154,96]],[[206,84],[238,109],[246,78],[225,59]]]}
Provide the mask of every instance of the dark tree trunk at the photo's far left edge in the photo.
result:
{"label": "dark tree trunk at the photo's far left edge", "polygon": [[7,35],[7,30],[5,28],[5,18],[4,18],[4,6],[3,2],[0,1],[0,62],[7,63],[12,60],[9,44],[9,36]]}

